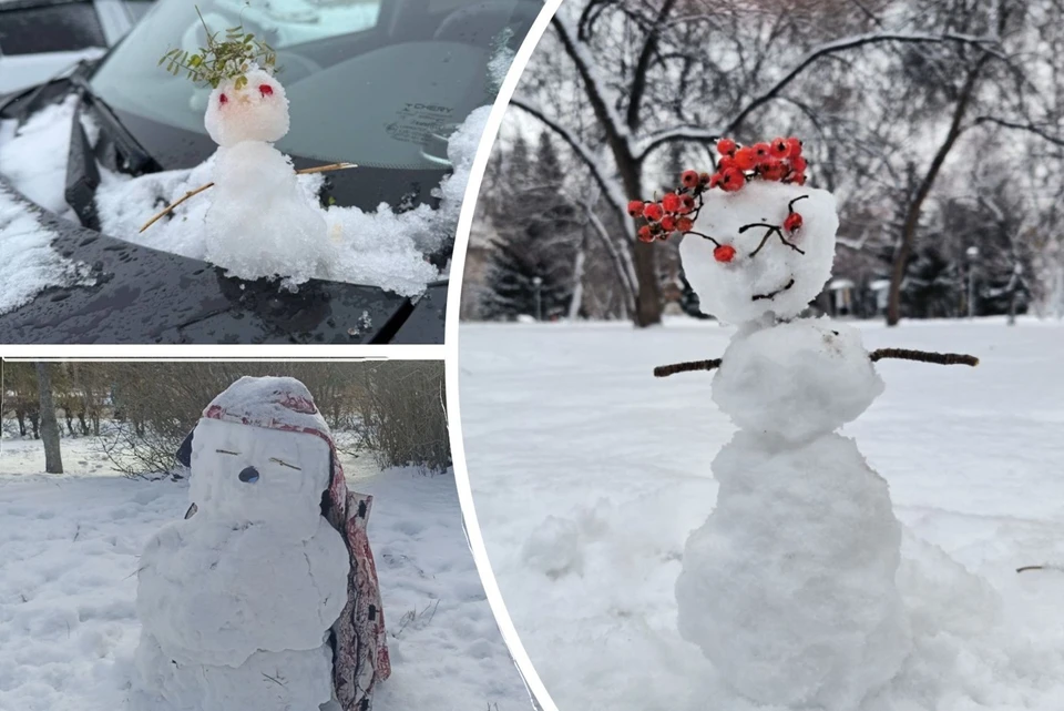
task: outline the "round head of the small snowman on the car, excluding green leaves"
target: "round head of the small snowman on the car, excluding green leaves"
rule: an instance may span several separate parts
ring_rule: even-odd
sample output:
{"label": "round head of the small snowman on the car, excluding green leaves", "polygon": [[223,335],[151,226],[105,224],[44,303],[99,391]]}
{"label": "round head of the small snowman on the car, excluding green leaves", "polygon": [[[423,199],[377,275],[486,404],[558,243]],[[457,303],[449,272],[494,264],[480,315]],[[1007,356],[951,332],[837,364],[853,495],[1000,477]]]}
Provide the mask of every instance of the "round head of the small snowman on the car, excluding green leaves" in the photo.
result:
{"label": "round head of the small snowman on the car, excluding green leaves", "polygon": [[242,141],[278,141],[288,133],[285,89],[262,69],[225,79],[211,92],[204,124],[214,142],[225,148]]}

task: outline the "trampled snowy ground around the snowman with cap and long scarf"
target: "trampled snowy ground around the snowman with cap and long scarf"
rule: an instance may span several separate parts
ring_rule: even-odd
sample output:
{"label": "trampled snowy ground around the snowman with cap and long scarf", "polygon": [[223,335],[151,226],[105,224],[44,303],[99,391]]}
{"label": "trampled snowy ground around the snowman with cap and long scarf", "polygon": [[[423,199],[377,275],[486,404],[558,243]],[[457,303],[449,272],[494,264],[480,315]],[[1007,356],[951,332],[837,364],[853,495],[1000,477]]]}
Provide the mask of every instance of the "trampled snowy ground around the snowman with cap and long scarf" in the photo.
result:
{"label": "trampled snowy ground around the snowman with cap and long scarf", "polygon": [[[124,708],[137,556],[188,508],[187,484],[117,476],[89,441],[63,439],[69,474],[59,476],[40,474],[39,441],[0,441],[3,711]],[[376,497],[369,537],[392,676],[374,709],[530,708],[462,532],[454,478],[379,471],[367,456],[344,467],[350,488]]]}

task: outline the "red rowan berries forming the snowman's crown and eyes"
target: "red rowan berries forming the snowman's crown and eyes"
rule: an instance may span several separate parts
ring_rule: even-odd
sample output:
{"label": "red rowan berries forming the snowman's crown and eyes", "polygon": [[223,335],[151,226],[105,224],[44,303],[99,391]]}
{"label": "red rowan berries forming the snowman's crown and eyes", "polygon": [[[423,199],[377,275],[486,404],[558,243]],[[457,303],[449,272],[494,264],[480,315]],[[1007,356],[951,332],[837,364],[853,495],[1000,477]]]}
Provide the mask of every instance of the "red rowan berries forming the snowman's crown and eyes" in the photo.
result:
{"label": "red rowan berries forming the snowman's crown and eyes", "polygon": [[[628,214],[645,224],[640,226],[637,235],[641,242],[667,240],[674,233],[696,234],[717,245],[714,252],[722,262],[730,262],[735,250],[722,245],[709,235],[694,232],[695,220],[703,206],[703,193],[714,187],[725,192],[736,192],[751,180],[771,180],[784,183],[806,183],[806,160],[801,158],[801,141],[795,138],[775,139],[771,143],[756,143],[740,146],[732,139],[717,141],[720,160],[717,172],[698,173],[684,171],[679,176],[679,186],[665,193],[657,202],[633,200],[628,203]],[[801,215],[788,216],[788,232],[801,226]],[[719,254],[717,254],[719,252]]]}

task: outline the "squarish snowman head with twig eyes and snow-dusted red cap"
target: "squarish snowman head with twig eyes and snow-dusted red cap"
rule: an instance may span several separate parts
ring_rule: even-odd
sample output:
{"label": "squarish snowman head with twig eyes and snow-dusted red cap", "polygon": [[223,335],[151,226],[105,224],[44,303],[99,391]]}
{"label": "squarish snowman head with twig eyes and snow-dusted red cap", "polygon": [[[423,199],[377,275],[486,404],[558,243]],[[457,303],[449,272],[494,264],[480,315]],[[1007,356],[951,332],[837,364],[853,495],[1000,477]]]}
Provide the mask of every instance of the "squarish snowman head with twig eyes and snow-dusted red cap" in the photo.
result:
{"label": "squarish snowman head with twig eyes and snow-dusted red cap", "polygon": [[244,377],[193,433],[190,494],[197,516],[309,538],[335,467],[328,426],[303,383]]}

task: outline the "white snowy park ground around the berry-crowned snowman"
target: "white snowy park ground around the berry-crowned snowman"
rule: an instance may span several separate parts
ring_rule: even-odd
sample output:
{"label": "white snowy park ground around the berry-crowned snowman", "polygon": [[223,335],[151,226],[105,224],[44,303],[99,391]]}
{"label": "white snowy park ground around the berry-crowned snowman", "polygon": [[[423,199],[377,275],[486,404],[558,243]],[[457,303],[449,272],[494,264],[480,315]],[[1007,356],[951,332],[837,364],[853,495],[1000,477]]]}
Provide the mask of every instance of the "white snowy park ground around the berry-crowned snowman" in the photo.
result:
{"label": "white snowy park ground around the berry-crowned snowman", "polygon": [[[880,362],[886,392],[842,430],[889,483],[906,528],[898,583],[915,638],[861,711],[1058,711],[1064,324],[858,325],[869,349],[982,360]],[[735,427],[709,399],[710,375],[652,376],[718,357],[730,334],[689,319],[642,333],[461,328],[477,515],[509,612],[562,711],[755,708],[676,629],[684,541],[714,507],[709,465]],[[1015,571],[1043,562],[1062,568]]]}

